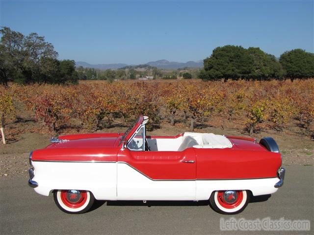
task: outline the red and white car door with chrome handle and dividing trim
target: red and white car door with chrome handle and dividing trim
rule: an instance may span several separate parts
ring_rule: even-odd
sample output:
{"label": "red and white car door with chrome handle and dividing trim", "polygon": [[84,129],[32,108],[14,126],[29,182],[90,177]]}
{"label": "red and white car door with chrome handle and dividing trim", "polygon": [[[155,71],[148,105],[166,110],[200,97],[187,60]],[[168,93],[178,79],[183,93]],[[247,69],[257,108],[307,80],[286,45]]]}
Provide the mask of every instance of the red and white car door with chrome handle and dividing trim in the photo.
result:
{"label": "red and white car door with chrome handle and dividing trim", "polygon": [[194,200],[195,150],[145,151],[144,141],[135,140],[118,153],[118,200]]}

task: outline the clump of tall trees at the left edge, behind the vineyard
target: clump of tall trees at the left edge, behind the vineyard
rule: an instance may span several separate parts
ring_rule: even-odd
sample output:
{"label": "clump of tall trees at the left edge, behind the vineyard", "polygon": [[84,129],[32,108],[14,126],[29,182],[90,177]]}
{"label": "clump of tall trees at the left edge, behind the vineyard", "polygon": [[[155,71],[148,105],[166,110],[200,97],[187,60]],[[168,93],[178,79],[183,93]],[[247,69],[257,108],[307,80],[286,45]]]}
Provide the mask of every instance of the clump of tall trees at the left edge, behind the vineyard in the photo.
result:
{"label": "clump of tall trees at the left edge, behind the vineyard", "polygon": [[74,61],[58,61],[58,53],[37,33],[24,36],[9,27],[0,29],[0,81],[17,83],[77,83]]}

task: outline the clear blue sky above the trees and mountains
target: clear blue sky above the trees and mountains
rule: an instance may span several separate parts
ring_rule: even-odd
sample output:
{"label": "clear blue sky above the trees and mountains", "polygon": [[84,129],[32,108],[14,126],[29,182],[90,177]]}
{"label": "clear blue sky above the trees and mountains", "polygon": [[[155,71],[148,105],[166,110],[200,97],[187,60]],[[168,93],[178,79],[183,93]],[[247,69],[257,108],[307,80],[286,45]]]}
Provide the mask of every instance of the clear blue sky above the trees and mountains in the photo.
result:
{"label": "clear blue sky above the trees and mountains", "polygon": [[91,64],[203,60],[224,45],[314,51],[314,1],[0,0],[0,25]]}

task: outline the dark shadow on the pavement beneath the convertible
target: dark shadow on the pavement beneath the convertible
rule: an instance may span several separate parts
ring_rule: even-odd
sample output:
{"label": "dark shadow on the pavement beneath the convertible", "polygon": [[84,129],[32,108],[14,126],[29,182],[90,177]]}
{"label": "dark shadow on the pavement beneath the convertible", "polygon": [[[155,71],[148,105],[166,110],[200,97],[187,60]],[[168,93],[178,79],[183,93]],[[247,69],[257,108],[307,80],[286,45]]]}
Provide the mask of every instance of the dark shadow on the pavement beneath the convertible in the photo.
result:
{"label": "dark shadow on the pavement beneath the convertible", "polygon": [[[261,196],[251,196],[250,203],[255,202],[264,202],[267,201],[268,198],[270,198],[270,194],[267,195],[261,195]],[[142,207],[180,207],[180,206],[209,206],[209,200],[205,201],[146,201],[144,203],[143,201],[95,201],[93,207],[91,208],[91,211],[96,210],[97,208],[104,205],[106,202],[107,206],[142,206]]]}

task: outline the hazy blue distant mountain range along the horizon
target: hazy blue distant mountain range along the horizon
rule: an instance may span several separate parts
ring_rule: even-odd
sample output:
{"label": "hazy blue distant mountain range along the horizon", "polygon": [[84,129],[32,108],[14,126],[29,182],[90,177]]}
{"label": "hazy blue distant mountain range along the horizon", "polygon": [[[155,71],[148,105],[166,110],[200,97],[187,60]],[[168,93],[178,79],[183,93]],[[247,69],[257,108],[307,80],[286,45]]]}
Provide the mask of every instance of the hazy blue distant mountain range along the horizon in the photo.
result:
{"label": "hazy blue distant mountain range along the horizon", "polygon": [[[180,62],[174,62],[174,61],[168,61],[168,60],[157,60],[157,61],[151,61],[144,65],[138,65],[138,67],[144,68],[145,65],[157,67],[158,69],[166,69],[166,70],[177,70],[179,68],[202,68],[203,67],[203,61],[188,61],[186,63],[180,63]],[[120,68],[128,68],[128,67],[134,67],[134,65],[127,65],[127,64],[98,64],[98,65],[91,65],[86,62],[78,61],[76,62],[76,66],[82,66],[84,68],[94,68],[98,70],[117,70]],[[136,66],[135,66],[136,67]]]}

